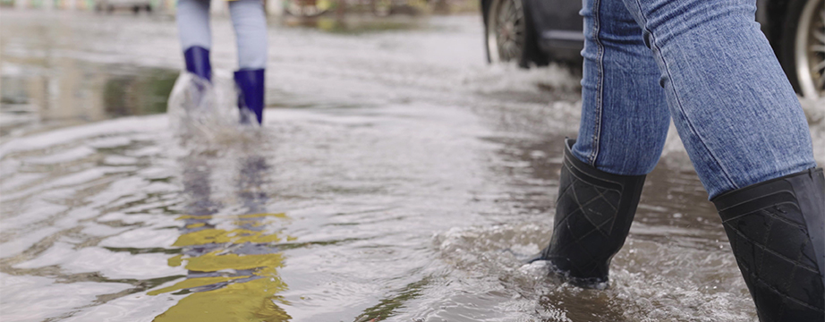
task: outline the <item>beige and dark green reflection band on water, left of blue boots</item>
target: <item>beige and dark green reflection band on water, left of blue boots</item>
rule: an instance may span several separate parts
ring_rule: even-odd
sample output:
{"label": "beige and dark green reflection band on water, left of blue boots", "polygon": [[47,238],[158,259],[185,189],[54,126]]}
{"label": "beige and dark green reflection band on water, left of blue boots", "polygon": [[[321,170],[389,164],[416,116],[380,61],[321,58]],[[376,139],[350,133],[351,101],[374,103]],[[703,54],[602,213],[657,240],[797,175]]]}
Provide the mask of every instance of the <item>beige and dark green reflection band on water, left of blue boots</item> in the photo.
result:
{"label": "beige and dark green reflection band on water, left of blue boots", "polygon": [[0,67],[0,136],[36,125],[62,127],[166,113],[166,98],[178,75],[169,69],[95,64],[60,55],[4,56]]}

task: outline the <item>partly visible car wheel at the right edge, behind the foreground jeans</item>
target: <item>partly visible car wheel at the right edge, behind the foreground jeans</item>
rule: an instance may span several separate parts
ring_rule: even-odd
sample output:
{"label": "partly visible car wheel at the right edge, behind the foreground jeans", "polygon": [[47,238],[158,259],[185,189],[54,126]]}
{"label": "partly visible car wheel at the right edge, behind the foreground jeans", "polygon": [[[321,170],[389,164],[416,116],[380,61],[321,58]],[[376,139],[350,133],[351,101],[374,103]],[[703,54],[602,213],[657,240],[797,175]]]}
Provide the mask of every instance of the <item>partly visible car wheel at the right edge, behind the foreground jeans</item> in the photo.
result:
{"label": "partly visible car wheel at the right edge, behind the foreground jeans", "polygon": [[825,97],[825,2],[792,0],[782,32],[782,66],[796,92]]}

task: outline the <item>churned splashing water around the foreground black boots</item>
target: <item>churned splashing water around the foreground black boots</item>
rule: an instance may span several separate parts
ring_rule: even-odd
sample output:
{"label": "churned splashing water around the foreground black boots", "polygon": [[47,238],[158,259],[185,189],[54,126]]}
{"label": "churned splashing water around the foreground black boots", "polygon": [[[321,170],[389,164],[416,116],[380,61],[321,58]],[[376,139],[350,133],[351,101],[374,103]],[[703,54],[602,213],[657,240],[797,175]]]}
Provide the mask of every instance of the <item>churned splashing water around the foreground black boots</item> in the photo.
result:
{"label": "churned splashing water around the foreground black boots", "polygon": [[[500,292],[513,298],[508,305],[533,303],[540,317],[551,321],[744,322],[755,318],[748,312],[753,303],[742,293],[744,282],[727,249],[684,248],[677,242],[647,242],[631,234],[614,258],[609,288],[583,290],[549,275],[546,262],[522,264],[528,257],[518,251],[537,252],[535,241],[549,235],[547,226],[498,225],[455,228],[437,234],[433,242],[447,263],[462,272],[455,274],[480,277],[489,288],[503,286]],[[482,276],[496,278],[487,281]],[[453,295],[447,292],[449,296]]]}

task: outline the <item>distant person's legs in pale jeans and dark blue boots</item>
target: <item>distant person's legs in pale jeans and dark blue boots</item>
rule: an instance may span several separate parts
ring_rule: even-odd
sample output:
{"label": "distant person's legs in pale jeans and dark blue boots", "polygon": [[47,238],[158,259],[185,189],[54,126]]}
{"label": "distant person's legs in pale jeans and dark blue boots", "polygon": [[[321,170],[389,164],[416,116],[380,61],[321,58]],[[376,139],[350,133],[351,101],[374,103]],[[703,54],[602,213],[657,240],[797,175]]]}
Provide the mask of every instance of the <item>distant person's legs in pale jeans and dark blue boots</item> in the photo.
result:
{"label": "distant person's legs in pale jeans and dark blue boots", "polygon": [[[267,66],[267,20],[260,0],[229,1],[229,14],[235,30],[239,69],[234,73],[241,95],[239,107],[247,108],[262,121],[264,70]],[[178,0],[177,24],[186,69],[211,80],[209,51],[209,0]]]}

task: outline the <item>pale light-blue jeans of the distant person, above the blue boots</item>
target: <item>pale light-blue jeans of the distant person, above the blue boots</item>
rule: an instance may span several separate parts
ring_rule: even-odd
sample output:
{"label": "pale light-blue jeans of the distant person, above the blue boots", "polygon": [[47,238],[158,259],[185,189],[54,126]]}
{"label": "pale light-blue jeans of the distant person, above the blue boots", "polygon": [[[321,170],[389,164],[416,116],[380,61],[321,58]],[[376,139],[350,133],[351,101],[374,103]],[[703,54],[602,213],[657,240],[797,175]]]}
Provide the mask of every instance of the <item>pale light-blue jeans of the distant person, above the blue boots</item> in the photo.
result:
{"label": "pale light-blue jeans of the distant person, above the blue boots", "polygon": [[[267,18],[259,0],[229,2],[229,15],[238,47],[238,67],[256,70],[267,66]],[[209,30],[209,0],[178,0],[178,33],[185,51],[197,46],[212,47]]]}

